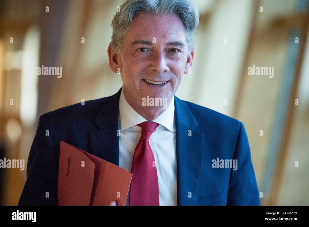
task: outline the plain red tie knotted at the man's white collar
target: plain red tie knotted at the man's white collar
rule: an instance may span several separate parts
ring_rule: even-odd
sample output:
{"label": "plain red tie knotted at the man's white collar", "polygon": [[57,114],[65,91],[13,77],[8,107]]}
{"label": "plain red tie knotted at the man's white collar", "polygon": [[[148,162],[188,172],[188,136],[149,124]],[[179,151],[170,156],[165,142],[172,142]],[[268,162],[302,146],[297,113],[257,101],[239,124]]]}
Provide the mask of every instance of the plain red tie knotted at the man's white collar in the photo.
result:
{"label": "plain red tie knotted at the man's white collar", "polygon": [[159,206],[157,167],[149,145],[150,136],[159,124],[144,121],[137,126],[142,127],[142,134],[133,155],[129,205]]}

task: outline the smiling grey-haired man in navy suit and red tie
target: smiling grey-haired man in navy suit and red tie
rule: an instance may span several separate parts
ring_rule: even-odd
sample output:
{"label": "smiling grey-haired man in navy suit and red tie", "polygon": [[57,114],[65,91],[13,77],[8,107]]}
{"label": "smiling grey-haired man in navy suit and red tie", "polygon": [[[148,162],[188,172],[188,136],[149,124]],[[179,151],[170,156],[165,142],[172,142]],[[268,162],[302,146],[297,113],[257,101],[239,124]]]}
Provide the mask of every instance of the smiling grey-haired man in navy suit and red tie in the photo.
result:
{"label": "smiling grey-haired man in navy suit and red tie", "polygon": [[57,205],[60,141],[131,171],[126,205],[260,205],[243,124],[174,95],[198,23],[190,0],[120,6],[108,57],[122,88],[40,116],[20,205]]}

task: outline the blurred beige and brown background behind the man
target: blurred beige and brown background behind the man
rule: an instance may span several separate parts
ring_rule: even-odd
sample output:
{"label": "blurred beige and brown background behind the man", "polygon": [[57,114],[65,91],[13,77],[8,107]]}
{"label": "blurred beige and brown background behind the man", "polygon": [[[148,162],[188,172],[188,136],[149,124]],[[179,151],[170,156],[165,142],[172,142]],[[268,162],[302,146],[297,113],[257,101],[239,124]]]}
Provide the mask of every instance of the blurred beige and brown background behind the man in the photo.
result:
{"label": "blurred beige and brown background behind the man", "polygon": [[[176,96],[243,122],[262,205],[309,205],[308,0],[193,1],[194,64]],[[107,55],[122,2],[0,1],[0,159],[25,160],[0,169],[1,205],[19,201],[41,114],[122,86]],[[62,77],[36,75],[41,65]],[[248,75],[253,65],[273,78]]]}

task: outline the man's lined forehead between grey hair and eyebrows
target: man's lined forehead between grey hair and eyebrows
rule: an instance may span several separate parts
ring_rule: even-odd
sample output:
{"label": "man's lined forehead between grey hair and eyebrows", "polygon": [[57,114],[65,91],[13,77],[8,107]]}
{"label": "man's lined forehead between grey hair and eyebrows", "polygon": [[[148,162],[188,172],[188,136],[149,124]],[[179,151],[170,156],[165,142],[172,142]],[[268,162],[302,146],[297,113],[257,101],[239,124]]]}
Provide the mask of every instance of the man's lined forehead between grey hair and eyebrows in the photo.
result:
{"label": "man's lined forehead between grey hair and eyebrows", "polygon": [[180,18],[176,15],[140,14],[132,20],[123,43],[131,43],[138,39],[152,41],[153,38],[156,38],[157,42],[180,40],[185,43],[185,29]]}

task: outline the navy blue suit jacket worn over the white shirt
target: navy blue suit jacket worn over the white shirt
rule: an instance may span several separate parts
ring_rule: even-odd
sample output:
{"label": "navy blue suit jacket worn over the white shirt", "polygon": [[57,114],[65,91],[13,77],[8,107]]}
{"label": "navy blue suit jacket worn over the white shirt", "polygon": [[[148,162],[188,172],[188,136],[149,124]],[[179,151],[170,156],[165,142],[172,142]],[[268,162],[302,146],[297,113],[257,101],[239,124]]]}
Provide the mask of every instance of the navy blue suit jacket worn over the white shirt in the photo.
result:
{"label": "navy blue suit jacket worn over the white shirt", "polygon": [[[119,165],[120,93],[121,89],[112,96],[40,116],[18,205],[58,204],[60,141]],[[175,122],[178,205],[260,205],[248,137],[241,122],[176,96]],[[217,158],[237,159],[237,170],[213,168],[212,160]]]}

